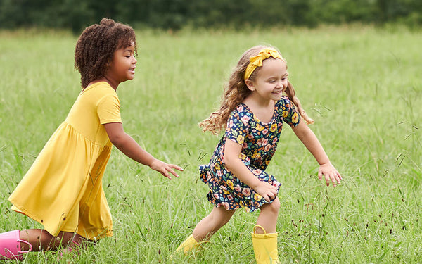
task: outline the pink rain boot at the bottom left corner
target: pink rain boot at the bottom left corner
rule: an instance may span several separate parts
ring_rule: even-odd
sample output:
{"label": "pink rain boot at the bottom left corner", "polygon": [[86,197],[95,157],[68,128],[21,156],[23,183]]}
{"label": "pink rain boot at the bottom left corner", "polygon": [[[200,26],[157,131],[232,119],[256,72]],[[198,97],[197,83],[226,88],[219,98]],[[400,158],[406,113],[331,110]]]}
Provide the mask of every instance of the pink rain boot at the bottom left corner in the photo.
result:
{"label": "pink rain boot at the bottom left corner", "polygon": [[[20,251],[20,242],[26,243],[30,246],[29,251]],[[32,251],[32,245],[27,241],[19,239],[19,230],[13,230],[0,234],[0,260],[14,259],[22,260],[22,253]]]}

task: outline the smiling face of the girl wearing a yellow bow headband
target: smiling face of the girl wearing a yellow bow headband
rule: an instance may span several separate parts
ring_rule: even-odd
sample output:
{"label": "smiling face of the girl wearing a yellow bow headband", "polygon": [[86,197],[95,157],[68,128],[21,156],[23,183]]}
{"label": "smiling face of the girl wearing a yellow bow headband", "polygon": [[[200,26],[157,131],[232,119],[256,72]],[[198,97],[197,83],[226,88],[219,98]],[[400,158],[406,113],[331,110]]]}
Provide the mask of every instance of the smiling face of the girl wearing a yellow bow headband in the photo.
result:
{"label": "smiling face of the girl wearing a yellow bow headband", "polygon": [[255,80],[245,80],[252,96],[260,101],[278,101],[286,90],[288,72],[286,62],[279,58],[267,58],[262,62]]}

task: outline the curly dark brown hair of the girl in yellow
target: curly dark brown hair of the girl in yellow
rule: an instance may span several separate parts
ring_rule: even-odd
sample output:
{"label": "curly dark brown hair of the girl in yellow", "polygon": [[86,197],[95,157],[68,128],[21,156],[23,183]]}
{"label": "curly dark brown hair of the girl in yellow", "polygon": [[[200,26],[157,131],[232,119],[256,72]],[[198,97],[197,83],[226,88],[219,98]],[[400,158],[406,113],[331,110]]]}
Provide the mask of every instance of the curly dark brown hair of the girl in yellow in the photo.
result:
{"label": "curly dark brown hair of the girl in yellow", "polygon": [[82,89],[103,77],[114,52],[130,46],[132,42],[137,56],[134,29],[113,19],[103,18],[100,24],[85,28],[75,47],[75,70],[81,73]]}

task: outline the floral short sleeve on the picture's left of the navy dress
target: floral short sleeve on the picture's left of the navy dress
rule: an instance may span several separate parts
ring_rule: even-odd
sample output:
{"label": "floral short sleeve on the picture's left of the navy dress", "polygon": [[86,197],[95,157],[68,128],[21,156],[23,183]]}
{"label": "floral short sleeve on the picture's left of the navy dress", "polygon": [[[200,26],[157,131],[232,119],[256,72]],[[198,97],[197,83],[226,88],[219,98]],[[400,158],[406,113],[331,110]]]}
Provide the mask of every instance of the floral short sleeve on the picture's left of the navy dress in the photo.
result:
{"label": "floral short sleeve on the picture's left of the navy dress", "polygon": [[250,118],[250,113],[245,111],[244,106],[238,106],[230,114],[224,137],[238,144],[243,144],[249,133]]}

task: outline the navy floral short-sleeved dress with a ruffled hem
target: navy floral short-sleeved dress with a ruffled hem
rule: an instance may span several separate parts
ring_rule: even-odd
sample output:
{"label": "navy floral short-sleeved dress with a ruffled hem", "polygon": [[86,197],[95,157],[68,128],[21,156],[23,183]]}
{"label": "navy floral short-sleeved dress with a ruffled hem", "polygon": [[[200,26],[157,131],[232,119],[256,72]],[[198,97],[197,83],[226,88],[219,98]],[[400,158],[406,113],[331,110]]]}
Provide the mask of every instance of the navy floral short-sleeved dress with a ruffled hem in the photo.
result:
{"label": "navy floral short-sleeved dress with a ruffled hem", "polygon": [[276,102],[273,118],[268,123],[258,120],[244,103],[238,104],[230,114],[226,132],[215,148],[210,163],[199,167],[200,179],[210,187],[207,199],[211,203],[216,207],[224,206],[226,210],[245,207],[247,211],[257,210],[264,203],[269,203],[226,169],[224,145],[227,139],[241,144],[239,158],[246,167],[259,180],[279,189],[280,183],[265,169],[276,151],[283,121],[292,127],[300,122],[300,115],[287,96],[282,96]]}

